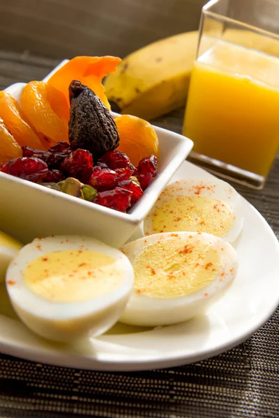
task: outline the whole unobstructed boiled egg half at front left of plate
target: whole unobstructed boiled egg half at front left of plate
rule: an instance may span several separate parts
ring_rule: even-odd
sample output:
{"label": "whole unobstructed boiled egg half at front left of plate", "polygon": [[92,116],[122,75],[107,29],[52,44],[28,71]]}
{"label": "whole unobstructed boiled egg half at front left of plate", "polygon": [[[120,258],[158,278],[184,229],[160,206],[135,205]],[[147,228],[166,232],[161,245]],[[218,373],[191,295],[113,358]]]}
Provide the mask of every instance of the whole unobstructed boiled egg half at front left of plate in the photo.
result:
{"label": "whole unobstructed boiled egg half at front left of plate", "polygon": [[56,341],[107,331],[123,313],[134,273],[118,249],[84,236],[36,238],[10,263],[10,301],[31,330]]}

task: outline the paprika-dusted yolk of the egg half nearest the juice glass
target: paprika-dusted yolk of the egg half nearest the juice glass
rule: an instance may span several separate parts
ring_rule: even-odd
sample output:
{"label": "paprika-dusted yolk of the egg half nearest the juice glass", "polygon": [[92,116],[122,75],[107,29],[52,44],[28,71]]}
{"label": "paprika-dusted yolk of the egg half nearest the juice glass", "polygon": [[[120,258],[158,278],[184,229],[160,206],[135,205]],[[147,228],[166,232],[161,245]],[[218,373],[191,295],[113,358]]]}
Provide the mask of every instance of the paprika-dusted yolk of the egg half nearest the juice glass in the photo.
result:
{"label": "paprika-dusted yolk of the egg half nearest the juice glass", "polygon": [[172,231],[207,232],[220,237],[232,227],[232,210],[210,196],[177,196],[153,212],[155,233]]}

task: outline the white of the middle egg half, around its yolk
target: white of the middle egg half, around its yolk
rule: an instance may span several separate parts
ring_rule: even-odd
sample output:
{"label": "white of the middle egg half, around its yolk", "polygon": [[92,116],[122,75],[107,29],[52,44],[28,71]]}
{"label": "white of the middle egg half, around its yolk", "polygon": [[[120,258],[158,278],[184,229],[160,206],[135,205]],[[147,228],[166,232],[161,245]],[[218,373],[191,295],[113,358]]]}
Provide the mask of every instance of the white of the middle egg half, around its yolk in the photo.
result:
{"label": "white of the middle egg half, around its yolk", "polygon": [[[176,235],[178,235],[177,238],[174,238],[172,233],[149,235],[148,237],[140,238],[139,240],[124,245],[121,250],[133,264],[138,254],[146,246],[154,242],[188,238],[189,235],[192,235],[198,240],[202,240],[202,242],[211,243],[218,251],[220,256],[220,271],[216,272],[216,276],[208,286],[182,297],[150,297],[144,295],[144,293],[136,293],[134,288],[126,310],[119,319],[121,323],[156,327],[189,320],[199,314],[203,314],[212,302],[218,300],[225,293],[226,289],[236,277],[238,268],[236,251],[228,242],[208,233],[178,232]],[[226,273],[222,277],[222,281],[220,281],[221,272]]]}

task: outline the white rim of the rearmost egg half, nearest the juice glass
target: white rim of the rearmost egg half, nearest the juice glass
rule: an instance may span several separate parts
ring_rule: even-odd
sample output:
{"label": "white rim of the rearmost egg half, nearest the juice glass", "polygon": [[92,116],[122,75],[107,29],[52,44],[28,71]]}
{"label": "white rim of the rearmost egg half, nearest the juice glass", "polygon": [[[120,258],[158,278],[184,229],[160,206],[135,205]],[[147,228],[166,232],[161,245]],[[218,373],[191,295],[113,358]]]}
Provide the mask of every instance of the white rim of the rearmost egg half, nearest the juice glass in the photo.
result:
{"label": "white rim of the rearmost egg half, nearest the juice glass", "polygon": [[[198,187],[204,186],[201,189]],[[160,194],[159,199],[153,205],[153,208],[149,212],[149,215],[144,219],[144,233],[146,235],[151,235],[157,233],[153,229],[153,213],[156,209],[160,208],[163,203],[169,201],[170,199],[175,199],[178,196],[195,196],[195,192],[199,191],[198,196],[209,196],[214,199],[218,199],[229,206],[232,210],[233,222],[231,228],[223,234],[220,238],[223,238],[227,242],[233,243],[239,237],[243,229],[243,210],[241,205],[241,196],[234,187],[229,185],[223,180],[209,179],[209,178],[190,178],[188,180],[177,180],[176,182],[167,185],[163,192]],[[170,232],[170,231],[164,231]],[[198,229],[195,231],[189,232],[202,232]]]}

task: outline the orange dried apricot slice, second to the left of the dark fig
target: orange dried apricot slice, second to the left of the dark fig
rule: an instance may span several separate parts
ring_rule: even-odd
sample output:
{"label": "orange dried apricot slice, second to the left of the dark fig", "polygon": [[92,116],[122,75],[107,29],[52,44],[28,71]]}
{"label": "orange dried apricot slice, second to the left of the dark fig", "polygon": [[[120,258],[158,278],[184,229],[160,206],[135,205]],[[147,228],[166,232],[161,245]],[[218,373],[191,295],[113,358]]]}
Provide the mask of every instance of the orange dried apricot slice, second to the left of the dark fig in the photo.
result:
{"label": "orange dried apricot slice, second to the left of the dark fig", "polygon": [[7,91],[0,91],[0,115],[6,128],[20,146],[44,148],[38,134],[27,123],[20,104]]}

